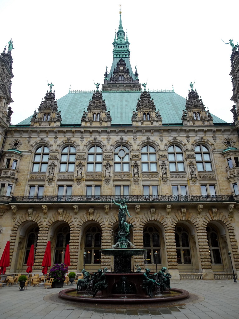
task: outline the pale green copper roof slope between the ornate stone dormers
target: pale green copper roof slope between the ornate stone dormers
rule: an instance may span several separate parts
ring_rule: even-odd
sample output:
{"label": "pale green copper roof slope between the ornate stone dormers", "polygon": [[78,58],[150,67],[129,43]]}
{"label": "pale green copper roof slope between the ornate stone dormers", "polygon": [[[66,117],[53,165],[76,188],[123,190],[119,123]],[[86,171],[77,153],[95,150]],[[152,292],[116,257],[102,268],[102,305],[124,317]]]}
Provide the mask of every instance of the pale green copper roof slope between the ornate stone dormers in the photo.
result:
{"label": "pale green copper roof slope between the ornate stone dormers", "polygon": [[[156,111],[159,110],[163,118],[163,124],[182,123],[181,117],[185,109],[185,98],[175,92],[151,92],[154,99]],[[112,124],[131,124],[133,109],[140,93],[135,92],[102,92],[107,111],[110,110]],[[83,111],[87,110],[92,92],[68,93],[57,101],[58,110],[61,109],[62,124],[81,124]],[[215,115],[212,115],[214,123],[226,123]],[[18,123],[20,125],[30,124],[32,116]]]}

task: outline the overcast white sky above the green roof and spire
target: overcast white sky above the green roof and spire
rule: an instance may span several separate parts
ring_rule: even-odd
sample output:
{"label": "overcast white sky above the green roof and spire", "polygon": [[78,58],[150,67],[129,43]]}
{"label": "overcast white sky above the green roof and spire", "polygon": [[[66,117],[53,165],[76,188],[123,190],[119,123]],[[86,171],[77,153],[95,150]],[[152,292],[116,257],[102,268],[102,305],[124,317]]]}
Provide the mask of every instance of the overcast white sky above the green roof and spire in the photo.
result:
{"label": "overcast white sky above the green roof and spire", "polygon": [[[140,83],[185,97],[190,81],[210,112],[232,122],[230,45],[239,42],[239,1],[0,0],[0,52],[12,38],[12,123],[32,115],[47,91],[59,99],[92,90],[111,67],[114,31],[128,31]],[[233,14],[236,12],[236,15]]]}

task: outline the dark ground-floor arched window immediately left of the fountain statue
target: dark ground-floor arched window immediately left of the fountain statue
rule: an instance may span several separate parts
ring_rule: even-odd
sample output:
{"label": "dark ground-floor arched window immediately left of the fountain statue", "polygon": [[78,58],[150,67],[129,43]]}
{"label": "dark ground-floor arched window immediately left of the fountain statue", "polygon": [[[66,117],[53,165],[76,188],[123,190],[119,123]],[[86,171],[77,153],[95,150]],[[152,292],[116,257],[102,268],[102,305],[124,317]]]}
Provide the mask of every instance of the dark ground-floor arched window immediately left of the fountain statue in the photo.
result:
{"label": "dark ground-floor arched window immediately left of the fountain statue", "polygon": [[97,226],[91,226],[85,234],[85,264],[101,262],[101,230]]}

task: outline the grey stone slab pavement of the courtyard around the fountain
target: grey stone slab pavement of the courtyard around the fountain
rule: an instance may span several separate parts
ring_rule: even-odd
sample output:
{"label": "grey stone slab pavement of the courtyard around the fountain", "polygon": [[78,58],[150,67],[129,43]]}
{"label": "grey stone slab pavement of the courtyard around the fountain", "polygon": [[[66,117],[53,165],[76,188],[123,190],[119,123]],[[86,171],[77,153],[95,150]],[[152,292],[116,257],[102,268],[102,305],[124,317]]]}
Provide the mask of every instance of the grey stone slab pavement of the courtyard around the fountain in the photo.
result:
{"label": "grey stone slab pavement of the courtyard around the fountain", "polygon": [[239,283],[233,280],[171,280],[171,286],[189,291],[191,297],[177,303],[108,307],[58,299],[62,288],[2,287],[0,319],[239,319]]}

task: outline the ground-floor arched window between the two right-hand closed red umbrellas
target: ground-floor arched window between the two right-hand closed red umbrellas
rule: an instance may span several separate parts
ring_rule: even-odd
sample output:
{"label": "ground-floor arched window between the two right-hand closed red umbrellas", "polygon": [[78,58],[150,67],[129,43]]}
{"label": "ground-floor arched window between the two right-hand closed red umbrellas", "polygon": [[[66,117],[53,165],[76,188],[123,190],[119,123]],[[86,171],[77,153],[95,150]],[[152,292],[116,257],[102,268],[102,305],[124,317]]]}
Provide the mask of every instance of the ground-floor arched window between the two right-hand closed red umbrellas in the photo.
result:
{"label": "ground-floor arched window between the two right-hand closed red umbrellas", "polygon": [[64,262],[66,245],[70,243],[69,226],[61,227],[56,234],[54,264]]}

